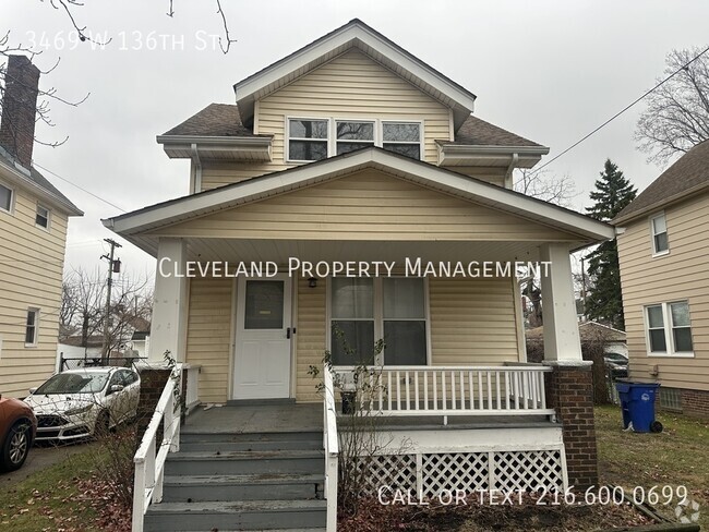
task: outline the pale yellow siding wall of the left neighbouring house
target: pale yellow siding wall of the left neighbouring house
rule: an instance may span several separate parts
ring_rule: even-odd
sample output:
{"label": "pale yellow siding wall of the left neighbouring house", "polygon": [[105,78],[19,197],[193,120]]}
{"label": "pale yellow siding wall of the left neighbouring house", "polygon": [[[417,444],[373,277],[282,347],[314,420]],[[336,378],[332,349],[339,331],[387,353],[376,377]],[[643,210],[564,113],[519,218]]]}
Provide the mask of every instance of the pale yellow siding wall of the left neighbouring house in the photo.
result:
{"label": "pale yellow siding wall of the left neighbouring house", "polygon": [[[0,210],[0,392],[24,397],[55,372],[67,216],[50,209],[49,230],[36,227],[37,198],[12,189],[13,211]],[[29,307],[39,309],[36,347],[25,347]]]}

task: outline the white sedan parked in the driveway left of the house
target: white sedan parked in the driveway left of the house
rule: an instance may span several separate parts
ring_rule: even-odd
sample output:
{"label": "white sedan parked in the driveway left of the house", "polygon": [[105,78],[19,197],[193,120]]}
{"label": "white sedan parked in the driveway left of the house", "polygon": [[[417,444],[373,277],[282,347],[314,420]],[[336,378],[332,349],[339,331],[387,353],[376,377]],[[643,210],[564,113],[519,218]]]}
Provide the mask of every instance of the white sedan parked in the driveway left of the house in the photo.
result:
{"label": "white sedan parked in the driveway left of the house", "polygon": [[134,419],[141,377],[124,367],[85,367],[58,373],[25,402],[37,415],[37,442],[98,436]]}

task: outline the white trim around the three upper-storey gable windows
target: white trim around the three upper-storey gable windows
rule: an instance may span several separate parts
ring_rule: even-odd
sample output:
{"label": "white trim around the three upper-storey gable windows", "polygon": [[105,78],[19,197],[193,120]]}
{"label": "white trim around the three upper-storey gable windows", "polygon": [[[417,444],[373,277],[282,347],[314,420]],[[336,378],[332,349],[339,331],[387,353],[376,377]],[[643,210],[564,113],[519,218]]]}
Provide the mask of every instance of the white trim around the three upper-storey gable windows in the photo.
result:
{"label": "white trim around the three upper-storey gable windows", "polygon": [[[287,114],[285,117],[285,126],[284,126],[284,162],[286,165],[300,165],[304,162],[315,162],[313,160],[300,160],[290,158],[290,121],[291,120],[325,120],[327,121],[327,138],[320,138],[321,142],[327,142],[327,158],[335,157],[337,155],[337,122],[371,122],[374,124],[374,146],[383,148],[384,146],[384,123],[400,123],[400,124],[418,124],[419,125],[419,159],[424,160],[424,149],[425,149],[425,134],[424,126],[425,121],[423,119],[408,119],[408,118],[372,118],[372,117],[313,117],[313,116],[298,116],[298,114]],[[301,140],[299,137],[293,138],[295,141]],[[387,144],[397,144],[397,143],[387,143]],[[398,143],[398,144],[414,144],[414,143]],[[322,159],[321,159],[322,160]],[[416,160],[416,159],[414,159]]]}

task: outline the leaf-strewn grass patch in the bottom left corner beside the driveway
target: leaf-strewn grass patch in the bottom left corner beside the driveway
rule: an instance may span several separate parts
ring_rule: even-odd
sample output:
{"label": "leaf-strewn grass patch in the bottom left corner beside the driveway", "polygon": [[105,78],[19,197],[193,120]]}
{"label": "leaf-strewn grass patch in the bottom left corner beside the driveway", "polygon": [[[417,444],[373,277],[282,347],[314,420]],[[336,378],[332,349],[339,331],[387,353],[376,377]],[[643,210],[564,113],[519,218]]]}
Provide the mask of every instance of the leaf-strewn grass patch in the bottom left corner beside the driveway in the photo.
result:
{"label": "leaf-strewn grass patch in the bottom left corner beside the driveway", "polygon": [[91,505],[94,494],[80,487],[81,481],[91,477],[93,445],[0,493],[0,530],[100,531],[93,524],[98,518]]}

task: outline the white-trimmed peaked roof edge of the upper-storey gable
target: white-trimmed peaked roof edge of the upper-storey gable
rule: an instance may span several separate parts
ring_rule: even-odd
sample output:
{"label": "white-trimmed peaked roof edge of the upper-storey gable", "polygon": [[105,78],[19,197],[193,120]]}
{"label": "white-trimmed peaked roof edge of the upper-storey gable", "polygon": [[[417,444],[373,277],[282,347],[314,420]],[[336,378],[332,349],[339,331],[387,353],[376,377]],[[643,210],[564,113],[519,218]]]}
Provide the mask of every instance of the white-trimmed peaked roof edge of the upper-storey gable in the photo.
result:
{"label": "white-trimmed peaked roof edge of the upper-storey gable", "polygon": [[233,85],[244,123],[253,119],[254,101],[292,82],[351,48],[389,69],[453,109],[459,128],[473,109],[476,95],[416,58],[359,19],[324,35]]}

